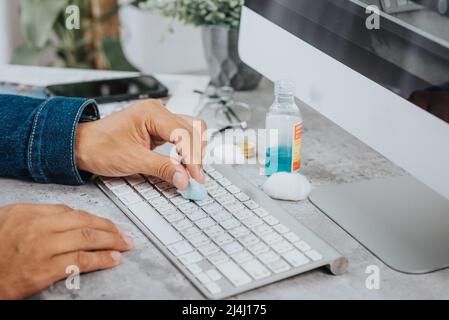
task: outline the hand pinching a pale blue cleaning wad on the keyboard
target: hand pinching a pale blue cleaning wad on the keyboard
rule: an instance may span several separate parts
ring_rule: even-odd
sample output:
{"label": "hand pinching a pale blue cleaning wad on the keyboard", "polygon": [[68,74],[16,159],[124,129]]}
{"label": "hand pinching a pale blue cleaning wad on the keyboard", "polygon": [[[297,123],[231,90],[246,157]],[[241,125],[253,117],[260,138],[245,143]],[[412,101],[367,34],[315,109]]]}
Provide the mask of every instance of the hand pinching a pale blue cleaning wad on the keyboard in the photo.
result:
{"label": "hand pinching a pale blue cleaning wad on the keyboard", "polygon": [[[108,177],[157,176],[184,190],[189,176],[205,182],[205,130],[204,121],[173,114],[158,100],[141,101],[102,120],[78,125],[77,166]],[[181,162],[152,151],[165,142],[176,146]]]}

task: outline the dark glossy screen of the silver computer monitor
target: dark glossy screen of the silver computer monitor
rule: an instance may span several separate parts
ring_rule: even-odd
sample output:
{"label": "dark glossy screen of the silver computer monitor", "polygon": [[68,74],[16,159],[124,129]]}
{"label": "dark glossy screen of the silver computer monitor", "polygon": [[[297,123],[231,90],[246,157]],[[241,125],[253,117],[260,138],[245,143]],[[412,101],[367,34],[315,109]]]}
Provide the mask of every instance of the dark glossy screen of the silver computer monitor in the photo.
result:
{"label": "dark glossy screen of the silver computer monitor", "polygon": [[[439,0],[245,3],[298,38],[449,123],[449,1],[447,7]],[[379,9],[380,16],[367,11],[367,5]]]}

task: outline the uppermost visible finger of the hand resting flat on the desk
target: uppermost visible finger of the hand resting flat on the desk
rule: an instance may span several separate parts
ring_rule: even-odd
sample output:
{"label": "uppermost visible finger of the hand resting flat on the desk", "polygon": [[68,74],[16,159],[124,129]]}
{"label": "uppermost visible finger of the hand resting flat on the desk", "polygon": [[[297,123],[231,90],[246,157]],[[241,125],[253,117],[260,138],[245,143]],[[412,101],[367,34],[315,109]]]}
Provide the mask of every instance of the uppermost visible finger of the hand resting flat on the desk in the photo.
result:
{"label": "uppermost visible finger of the hand resting flat on the desk", "polygon": [[112,233],[122,232],[112,221],[81,210],[71,210],[57,216],[45,217],[42,219],[42,223],[52,232],[63,232],[80,228],[91,228]]}

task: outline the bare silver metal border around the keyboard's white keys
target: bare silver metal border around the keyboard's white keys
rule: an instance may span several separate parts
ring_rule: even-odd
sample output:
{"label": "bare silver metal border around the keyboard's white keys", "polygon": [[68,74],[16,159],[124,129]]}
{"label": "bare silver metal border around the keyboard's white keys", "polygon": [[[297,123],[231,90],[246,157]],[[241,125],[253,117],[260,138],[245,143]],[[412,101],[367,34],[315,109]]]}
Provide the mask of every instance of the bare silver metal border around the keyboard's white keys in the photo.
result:
{"label": "bare silver metal border around the keyboard's white keys", "polygon": [[317,262],[309,263],[302,267],[295,267],[287,272],[271,275],[267,279],[254,280],[248,285],[236,287],[232,290],[227,290],[223,293],[213,295],[205,288],[205,286],[197,280],[197,278],[187,269],[178,259],[168,250],[168,248],[156,238],[155,235],[126,207],[119,198],[109,190],[100,178],[96,177],[95,182],[97,186],[106,194],[107,197],[123,212],[125,215],[139,228],[139,230],[156,246],[162,254],[170,260],[181,273],[195,285],[195,287],[209,299],[225,299],[238,294],[242,294],[246,291],[250,291],[256,288],[260,288],[266,285],[274,284],[280,280],[291,278],[296,275],[300,275],[304,272],[318,269],[327,266],[332,274],[339,275],[346,271],[348,261],[334,249],[329,243],[325,242],[313,231],[305,227],[300,221],[293,218],[289,213],[282,209],[276,202],[269,198],[265,193],[260,191],[257,187],[251,183],[242,179],[242,177],[235,171],[232,166],[228,165],[213,165],[213,167],[222,173],[233,184],[239,187],[243,192],[248,194],[252,199],[265,207],[269,212],[275,212],[276,218],[289,226],[292,231],[295,231],[303,237],[309,244],[320,250],[323,255],[323,259]]}

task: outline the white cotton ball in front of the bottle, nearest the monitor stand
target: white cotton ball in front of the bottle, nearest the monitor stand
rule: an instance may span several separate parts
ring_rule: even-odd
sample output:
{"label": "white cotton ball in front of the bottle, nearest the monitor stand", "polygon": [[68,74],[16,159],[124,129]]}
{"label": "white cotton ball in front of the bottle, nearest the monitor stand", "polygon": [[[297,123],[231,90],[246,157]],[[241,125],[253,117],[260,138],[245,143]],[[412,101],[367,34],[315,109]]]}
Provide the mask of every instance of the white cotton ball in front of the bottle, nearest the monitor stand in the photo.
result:
{"label": "white cotton ball in front of the bottle, nearest the monitor stand", "polygon": [[275,173],[263,185],[263,191],[267,195],[279,200],[305,200],[311,190],[309,180],[299,173]]}

